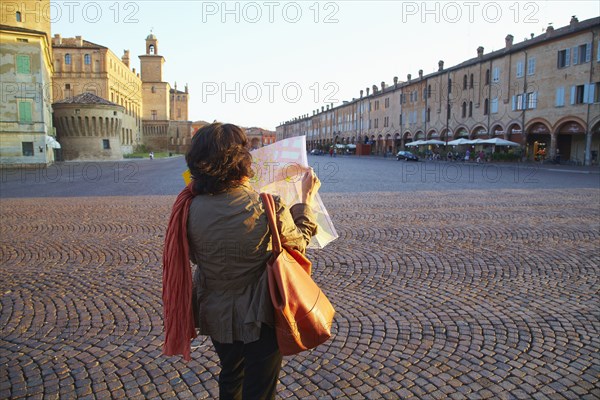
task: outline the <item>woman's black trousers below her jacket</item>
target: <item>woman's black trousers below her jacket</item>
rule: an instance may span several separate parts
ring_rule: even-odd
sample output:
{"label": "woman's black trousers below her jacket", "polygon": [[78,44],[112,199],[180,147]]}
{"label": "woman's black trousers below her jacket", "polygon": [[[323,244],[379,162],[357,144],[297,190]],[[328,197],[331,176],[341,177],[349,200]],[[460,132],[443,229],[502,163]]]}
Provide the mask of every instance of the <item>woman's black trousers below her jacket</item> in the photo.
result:
{"label": "woman's black trousers below her jacket", "polygon": [[221,400],[275,398],[282,356],[273,328],[263,324],[260,339],[252,343],[212,342],[221,360]]}

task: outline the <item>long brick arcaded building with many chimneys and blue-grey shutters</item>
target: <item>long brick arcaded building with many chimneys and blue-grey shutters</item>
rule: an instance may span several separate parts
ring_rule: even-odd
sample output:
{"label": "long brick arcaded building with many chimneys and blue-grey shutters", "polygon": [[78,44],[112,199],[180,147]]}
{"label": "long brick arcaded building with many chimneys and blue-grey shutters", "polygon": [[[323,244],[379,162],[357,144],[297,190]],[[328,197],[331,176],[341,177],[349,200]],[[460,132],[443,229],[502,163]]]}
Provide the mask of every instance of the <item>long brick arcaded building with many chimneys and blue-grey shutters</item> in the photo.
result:
{"label": "long brick arcaded building with many chimneys and blue-grey shutters", "polygon": [[598,164],[600,153],[600,18],[578,21],[458,65],[406,81],[394,78],[358,98],[325,106],[277,127],[277,139],[306,135],[309,149],[370,143],[374,154],[418,139],[501,137],[534,159]]}

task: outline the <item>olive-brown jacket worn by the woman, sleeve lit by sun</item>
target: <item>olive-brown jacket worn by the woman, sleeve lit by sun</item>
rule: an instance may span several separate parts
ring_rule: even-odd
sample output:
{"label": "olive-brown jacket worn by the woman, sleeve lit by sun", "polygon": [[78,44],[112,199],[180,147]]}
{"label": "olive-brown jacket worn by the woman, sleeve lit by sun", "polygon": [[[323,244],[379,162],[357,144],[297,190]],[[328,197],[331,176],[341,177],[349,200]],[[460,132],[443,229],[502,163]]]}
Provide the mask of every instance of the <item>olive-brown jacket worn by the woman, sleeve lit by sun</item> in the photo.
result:
{"label": "olive-brown jacket worn by the woman, sleeve lit by sun", "polygon": [[[317,225],[310,207],[275,208],[282,243],[304,252]],[[273,326],[266,263],[271,234],[258,193],[243,184],[192,200],[188,217],[190,260],[198,298],[199,333],[221,343],[250,343],[262,323]]]}

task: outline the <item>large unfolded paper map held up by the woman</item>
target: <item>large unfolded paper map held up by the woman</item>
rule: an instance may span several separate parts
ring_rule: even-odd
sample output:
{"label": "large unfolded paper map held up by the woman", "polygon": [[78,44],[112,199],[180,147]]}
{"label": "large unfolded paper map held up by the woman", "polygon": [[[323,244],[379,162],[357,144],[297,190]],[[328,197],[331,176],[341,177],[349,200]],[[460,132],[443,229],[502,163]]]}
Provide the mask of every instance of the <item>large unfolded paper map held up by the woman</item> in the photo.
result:
{"label": "large unfolded paper map held up by the woman", "polygon": [[[251,152],[254,177],[250,184],[257,192],[267,192],[281,196],[288,207],[301,201],[302,176],[309,168],[306,157],[306,137],[296,136],[277,141],[269,146]],[[185,171],[183,179],[189,183],[191,176]],[[317,193],[312,207],[317,219],[317,234],[309,248],[323,248],[338,238],[333,222]]]}

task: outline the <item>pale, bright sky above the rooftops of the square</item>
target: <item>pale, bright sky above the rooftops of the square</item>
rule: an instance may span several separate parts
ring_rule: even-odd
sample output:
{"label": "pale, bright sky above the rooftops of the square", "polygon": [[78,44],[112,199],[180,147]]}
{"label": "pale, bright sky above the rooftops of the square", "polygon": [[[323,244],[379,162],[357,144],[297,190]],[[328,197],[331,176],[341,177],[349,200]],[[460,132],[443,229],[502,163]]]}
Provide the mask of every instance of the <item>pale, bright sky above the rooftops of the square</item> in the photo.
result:
{"label": "pale, bright sky above the rooftops of the square", "polygon": [[117,56],[158,38],[163,79],[190,90],[189,118],[275,130],[359,97],[555,28],[598,17],[597,0],[55,1],[52,35],[83,36]]}

